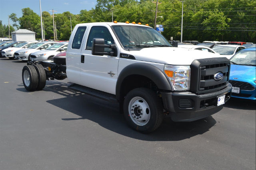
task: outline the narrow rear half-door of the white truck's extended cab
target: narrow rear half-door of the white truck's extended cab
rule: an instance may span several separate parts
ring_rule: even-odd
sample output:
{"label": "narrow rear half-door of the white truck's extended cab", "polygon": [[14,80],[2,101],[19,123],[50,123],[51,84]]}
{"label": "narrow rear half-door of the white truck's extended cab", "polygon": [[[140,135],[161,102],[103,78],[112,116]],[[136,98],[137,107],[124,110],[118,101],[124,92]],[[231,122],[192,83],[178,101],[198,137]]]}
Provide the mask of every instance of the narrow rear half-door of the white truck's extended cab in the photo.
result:
{"label": "narrow rear half-door of the white truck's extended cab", "polygon": [[66,52],[66,73],[69,81],[80,84],[80,57],[86,26],[76,26],[70,36]]}

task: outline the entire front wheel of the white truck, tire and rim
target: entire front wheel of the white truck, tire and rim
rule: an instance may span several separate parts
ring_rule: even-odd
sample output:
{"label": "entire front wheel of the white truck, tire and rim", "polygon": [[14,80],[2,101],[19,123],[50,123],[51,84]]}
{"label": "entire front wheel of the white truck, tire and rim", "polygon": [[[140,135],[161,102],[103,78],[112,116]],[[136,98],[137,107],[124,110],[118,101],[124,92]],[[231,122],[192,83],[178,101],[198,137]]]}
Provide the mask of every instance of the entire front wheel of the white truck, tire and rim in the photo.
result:
{"label": "entire front wheel of the white truck, tire and rim", "polygon": [[162,103],[150,89],[133,89],[124,99],[124,117],[133,129],[142,133],[152,132],[162,123]]}

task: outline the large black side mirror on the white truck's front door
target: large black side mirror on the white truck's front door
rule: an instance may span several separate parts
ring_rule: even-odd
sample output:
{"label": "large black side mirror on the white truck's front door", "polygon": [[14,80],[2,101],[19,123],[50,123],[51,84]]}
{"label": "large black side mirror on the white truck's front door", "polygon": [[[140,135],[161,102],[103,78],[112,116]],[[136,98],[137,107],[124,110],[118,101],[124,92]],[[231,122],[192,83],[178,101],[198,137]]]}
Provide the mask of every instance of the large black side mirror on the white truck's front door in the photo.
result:
{"label": "large black side mirror on the white truck's front door", "polygon": [[[105,48],[111,48],[113,51],[105,52]],[[117,48],[115,44],[106,45],[104,38],[94,38],[92,40],[92,55],[110,55],[117,56]]]}

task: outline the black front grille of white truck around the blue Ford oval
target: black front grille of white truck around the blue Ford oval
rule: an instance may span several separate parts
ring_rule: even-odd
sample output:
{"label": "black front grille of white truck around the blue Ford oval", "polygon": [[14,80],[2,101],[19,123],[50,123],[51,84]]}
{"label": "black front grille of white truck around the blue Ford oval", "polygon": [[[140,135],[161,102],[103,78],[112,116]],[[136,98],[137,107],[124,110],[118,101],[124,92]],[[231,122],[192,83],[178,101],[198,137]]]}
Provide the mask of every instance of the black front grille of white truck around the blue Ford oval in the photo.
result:
{"label": "black front grille of white truck around the blue Ford oval", "polygon": [[[230,61],[226,57],[196,59],[190,68],[190,90],[194,93],[212,93],[220,91],[228,85]],[[214,75],[219,72],[223,74],[223,77],[217,81],[214,79]]]}

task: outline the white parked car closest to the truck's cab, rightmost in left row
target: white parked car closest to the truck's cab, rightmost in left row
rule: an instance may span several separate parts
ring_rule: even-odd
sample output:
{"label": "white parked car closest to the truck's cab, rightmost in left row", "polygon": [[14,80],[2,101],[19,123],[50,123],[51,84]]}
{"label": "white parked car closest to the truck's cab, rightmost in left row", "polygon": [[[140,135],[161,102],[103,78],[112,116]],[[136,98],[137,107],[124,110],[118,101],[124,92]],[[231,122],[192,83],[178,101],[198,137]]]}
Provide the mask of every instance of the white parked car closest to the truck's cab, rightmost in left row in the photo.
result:
{"label": "white parked car closest to the truck's cab, rightmost in left row", "polygon": [[45,50],[37,51],[34,53],[31,53],[30,57],[31,60],[45,60],[45,59],[52,59],[52,57],[61,51],[66,51],[68,48],[68,42],[61,42],[56,43]]}

